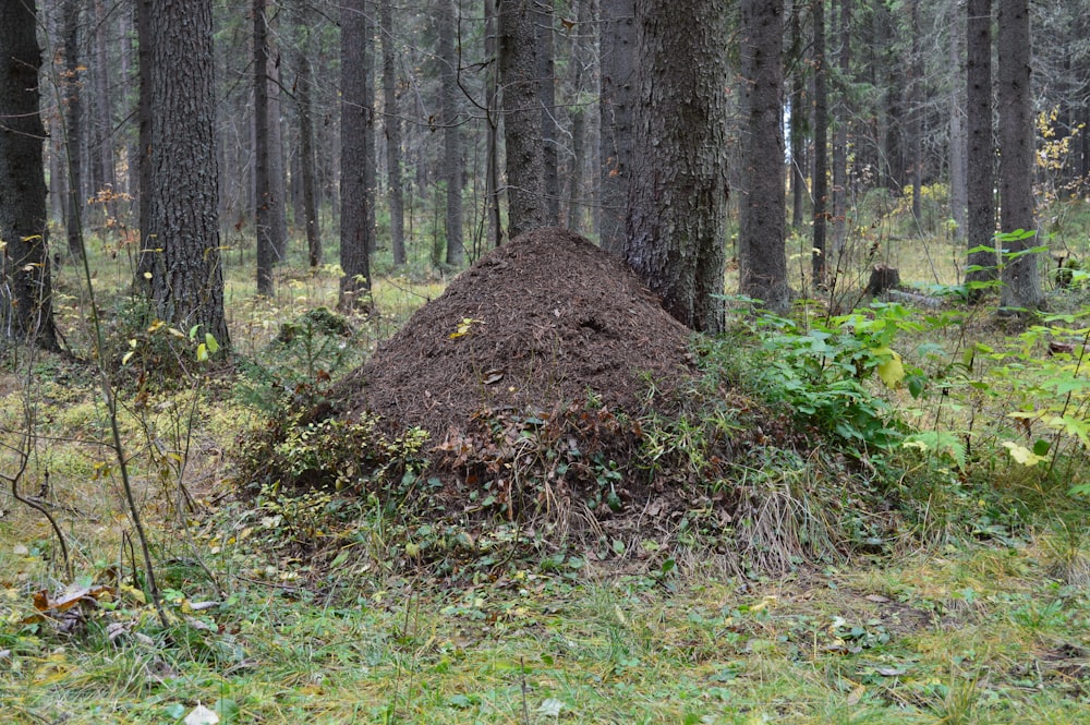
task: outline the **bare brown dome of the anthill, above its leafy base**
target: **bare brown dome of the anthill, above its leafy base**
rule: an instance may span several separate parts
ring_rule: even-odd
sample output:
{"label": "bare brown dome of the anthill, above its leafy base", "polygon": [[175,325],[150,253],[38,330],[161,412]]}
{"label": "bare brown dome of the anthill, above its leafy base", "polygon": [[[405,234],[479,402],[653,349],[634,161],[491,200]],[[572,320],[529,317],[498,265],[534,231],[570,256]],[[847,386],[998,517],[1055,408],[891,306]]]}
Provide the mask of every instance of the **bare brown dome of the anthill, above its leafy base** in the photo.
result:
{"label": "bare brown dome of the anthill, above its leafy base", "polygon": [[[335,395],[350,415],[433,445],[482,415],[571,406],[633,413],[689,375],[689,331],[622,262],[560,228],[529,232],[457,277]],[[340,398],[340,400],[337,400]]]}

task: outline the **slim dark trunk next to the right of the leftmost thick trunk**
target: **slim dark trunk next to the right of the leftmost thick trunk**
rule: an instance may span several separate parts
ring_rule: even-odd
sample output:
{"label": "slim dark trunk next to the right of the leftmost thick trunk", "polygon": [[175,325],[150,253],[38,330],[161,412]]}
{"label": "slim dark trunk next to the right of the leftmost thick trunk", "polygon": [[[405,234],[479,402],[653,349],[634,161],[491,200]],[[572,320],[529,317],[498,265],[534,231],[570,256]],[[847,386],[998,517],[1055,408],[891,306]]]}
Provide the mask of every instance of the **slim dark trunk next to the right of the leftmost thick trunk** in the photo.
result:
{"label": "slim dark trunk next to the right of the leftmost thick trunk", "polygon": [[69,254],[78,258],[83,254],[83,90],[80,80],[80,2],[65,0],[64,5],[64,118],[68,133],[64,154],[68,158],[68,204],[64,229],[68,233]]}

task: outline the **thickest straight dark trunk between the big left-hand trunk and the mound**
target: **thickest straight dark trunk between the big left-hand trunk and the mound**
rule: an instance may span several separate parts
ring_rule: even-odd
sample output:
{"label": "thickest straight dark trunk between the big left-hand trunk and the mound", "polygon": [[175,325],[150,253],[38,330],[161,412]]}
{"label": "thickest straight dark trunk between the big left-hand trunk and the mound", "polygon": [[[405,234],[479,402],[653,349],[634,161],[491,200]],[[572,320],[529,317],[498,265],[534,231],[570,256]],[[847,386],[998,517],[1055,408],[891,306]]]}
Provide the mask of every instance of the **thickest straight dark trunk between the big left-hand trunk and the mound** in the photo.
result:
{"label": "thickest straight dark trunk between the big left-hand trunk and the mound", "polygon": [[[339,305],[343,310],[371,305],[371,258],[374,227],[373,190],[367,185],[366,167],[374,167],[367,154],[367,126],[374,122],[373,94],[367,83],[365,45],[368,23],[365,0],[349,0],[341,7],[341,244]],[[374,171],[372,171],[374,173]]]}

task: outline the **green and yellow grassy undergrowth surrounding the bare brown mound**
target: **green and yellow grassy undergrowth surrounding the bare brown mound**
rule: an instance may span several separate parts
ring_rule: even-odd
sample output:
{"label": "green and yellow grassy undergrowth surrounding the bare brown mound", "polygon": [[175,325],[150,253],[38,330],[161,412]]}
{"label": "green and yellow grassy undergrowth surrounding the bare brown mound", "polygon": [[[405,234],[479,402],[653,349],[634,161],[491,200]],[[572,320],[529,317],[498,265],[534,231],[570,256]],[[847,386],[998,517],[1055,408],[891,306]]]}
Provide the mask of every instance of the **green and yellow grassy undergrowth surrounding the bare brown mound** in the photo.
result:
{"label": "green and yellow grassy undergrowth surrounding the bare brown mound", "polygon": [[228,255],[229,359],[108,298],[162,616],[93,366],[7,351],[3,721],[1087,721],[1090,292],[1071,267],[997,317],[919,243],[940,304],[729,297],[669,414],[589,395],[446,442],[328,403],[439,279],[349,318],[335,269],[253,301]]}

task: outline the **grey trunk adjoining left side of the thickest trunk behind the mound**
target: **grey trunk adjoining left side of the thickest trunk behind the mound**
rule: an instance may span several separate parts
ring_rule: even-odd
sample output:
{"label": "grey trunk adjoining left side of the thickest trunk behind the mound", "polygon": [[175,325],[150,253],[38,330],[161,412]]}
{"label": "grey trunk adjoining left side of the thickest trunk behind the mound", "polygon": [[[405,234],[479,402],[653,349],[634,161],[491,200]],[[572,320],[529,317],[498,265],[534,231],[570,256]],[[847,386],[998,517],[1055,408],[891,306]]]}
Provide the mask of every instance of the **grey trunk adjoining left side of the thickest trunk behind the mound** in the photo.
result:
{"label": "grey trunk adjoining left side of the thickest trunk behind the mound", "polygon": [[602,0],[598,43],[602,94],[598,237],[602,247],[621,254],[625,213],[632,179],[632,106],[635,100],[635,2]]}

